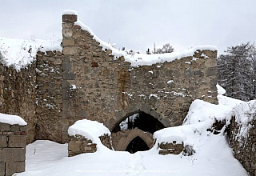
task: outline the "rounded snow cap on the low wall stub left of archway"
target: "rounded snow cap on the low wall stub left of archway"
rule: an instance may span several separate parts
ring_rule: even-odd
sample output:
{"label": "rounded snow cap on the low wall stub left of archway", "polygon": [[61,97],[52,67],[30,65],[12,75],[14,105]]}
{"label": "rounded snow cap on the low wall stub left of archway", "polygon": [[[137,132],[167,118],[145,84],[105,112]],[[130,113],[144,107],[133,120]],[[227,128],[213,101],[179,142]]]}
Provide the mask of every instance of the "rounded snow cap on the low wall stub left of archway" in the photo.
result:
{"label": "rounded snow cap on the low wall stub left of archway", "polygon": [[96,121],[90,121],[87,119],[78,120],[74,122],[74,125],[70,126],[68,129],[68,134],[70,136],[75,136],[76,134],[82,135],[85,138],[92,140],[95,143],[99,142],[100,136],[107,134],[110,136],[110,130],[104,126],[102,123]]}

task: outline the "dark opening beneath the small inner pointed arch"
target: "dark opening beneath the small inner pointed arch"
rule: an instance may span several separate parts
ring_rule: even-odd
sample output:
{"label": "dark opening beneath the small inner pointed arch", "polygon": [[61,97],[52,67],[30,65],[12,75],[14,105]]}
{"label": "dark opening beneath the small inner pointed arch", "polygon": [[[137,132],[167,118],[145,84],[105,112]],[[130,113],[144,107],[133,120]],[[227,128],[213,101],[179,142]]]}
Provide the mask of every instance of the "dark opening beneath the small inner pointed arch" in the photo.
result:
{"label": "dark opening beneath the small inner pointed arch", "polygon": [[143,139],[138,136],[134,138],[126,147],[126,151],[130,152],[130,154],[145,150],[150,150],[150,148],[146,145],[146,142],[144,142]]}

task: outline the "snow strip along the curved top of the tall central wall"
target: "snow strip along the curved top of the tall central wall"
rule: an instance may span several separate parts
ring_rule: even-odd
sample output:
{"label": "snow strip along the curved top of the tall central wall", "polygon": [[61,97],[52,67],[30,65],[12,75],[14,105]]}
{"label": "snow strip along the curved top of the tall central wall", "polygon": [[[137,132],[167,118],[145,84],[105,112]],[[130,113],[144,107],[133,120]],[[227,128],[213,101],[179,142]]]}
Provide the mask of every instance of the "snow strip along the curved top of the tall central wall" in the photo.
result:
{"label": "snow strip along the curved top of the tall central wall", "polygon": [[131,66],[151,66],[158,62],[173,62],[175,59],[180,59],[184,57],[193,56],[196,50],[218,50],[216,46],[196,46],[189,50],[183,50],[181,52],[173,52],[166,54],[126,54],[126,51],[117,50],[110,45],[110,43],[103,42],[99,39],[92,30],[82,22],[77,21],[74,22],[74,25],[81,26],[82,30],[86,30],[90,33],[90,35],[94,36],[94,40],[99,42],[99,46],[102,46],[102,50],[112,50],[112,55],[114,55],[114,59],[117,59],[121,56],[125,58],[126,62],[130,62]]}

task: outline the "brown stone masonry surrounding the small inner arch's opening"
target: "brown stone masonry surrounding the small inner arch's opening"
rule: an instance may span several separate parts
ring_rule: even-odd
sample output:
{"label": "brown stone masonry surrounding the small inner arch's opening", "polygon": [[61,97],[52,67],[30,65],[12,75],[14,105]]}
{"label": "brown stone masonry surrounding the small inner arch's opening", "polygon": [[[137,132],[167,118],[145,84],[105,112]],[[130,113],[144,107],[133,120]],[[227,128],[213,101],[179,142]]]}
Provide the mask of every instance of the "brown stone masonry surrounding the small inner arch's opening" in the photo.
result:
{"label": "brown stone masonry surrounding the small inner arch's opening", "polygon": [[125,151],[129,143],[136,137],[142,138],[146,145],[151,149],[154,146],[153,134],[134,128],[132,130],[126,129],[112,133],[112,145],[114,150]]}

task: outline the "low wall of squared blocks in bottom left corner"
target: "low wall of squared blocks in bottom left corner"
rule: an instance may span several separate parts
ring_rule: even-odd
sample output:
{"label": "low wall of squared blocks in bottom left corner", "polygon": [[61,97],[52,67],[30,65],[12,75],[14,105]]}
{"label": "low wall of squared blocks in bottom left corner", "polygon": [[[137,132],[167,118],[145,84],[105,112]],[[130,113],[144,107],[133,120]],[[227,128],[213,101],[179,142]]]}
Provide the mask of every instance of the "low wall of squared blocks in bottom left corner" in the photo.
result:
{"label": "low wall of squared blocks in bottom left corner", "polygon": [[0,176],[25,171],[26,126],[0,123]]}

